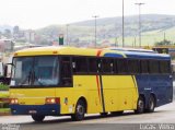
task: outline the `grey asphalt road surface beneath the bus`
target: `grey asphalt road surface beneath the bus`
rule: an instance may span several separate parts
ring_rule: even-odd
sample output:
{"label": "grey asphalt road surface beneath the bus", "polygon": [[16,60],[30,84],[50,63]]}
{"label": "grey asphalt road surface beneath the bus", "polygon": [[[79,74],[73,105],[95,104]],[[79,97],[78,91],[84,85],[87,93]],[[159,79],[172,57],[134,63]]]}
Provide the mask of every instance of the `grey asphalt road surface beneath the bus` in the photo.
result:
{"label": "grey asphalt road surface beneath the bus", "polygon": [[125,111],[122,116],[88,115],[83,121],[71,121],[70,117],[47,117],[42,123],[34,122],[30,116],[2,116],[0,123],[2,130],[149,130],[150,126],[152,129],[165,130],[160,128],[162,123],[174,130],[175,103],[159,107],[152,114]]}

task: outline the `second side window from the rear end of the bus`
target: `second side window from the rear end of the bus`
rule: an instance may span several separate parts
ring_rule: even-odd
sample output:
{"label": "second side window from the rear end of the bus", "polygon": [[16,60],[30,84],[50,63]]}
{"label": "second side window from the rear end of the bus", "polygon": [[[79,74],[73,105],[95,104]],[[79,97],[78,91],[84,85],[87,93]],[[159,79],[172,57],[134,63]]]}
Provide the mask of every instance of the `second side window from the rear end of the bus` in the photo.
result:
{"label": "second side window from the rear end of the bus", "polygon": [[158,60],[150,60],[149,61],[149,70],[150,70],[150,73],[160,73],[159,61]]}

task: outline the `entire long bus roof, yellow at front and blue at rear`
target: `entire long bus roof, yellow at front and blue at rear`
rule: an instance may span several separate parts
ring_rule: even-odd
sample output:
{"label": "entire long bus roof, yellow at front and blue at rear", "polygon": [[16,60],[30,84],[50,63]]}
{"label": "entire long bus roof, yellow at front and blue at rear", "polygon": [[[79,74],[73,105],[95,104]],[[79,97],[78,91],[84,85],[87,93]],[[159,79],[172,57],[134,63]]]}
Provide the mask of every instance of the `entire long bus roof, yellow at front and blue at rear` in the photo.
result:
{"label": "entire long bus roof, yellow at front and blue at rear", "polygon": [[19,50],[14,54],[18,56],[42,56],[42,55],[68,55],[68,56],[101,56],[101,57],[128,57],[137,59],[165,59],[170,60],[170,55],[161,55],[154,52],[140,52],[140,51],[122,51],[110,49],[90,49],[90,48],[77,48],[77,47],[35,47]]}

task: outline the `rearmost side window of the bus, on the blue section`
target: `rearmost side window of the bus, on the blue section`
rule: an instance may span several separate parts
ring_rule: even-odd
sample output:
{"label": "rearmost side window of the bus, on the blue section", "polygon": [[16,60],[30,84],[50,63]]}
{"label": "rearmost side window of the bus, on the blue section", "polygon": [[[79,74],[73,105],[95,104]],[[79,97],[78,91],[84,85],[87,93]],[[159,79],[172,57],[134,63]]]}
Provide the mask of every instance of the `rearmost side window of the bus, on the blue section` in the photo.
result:
{"label": "rearmost side window of the bus, on the blue section", "polygon": [[171,73],[170,61],[160,61],[160,71],[161,73]]}

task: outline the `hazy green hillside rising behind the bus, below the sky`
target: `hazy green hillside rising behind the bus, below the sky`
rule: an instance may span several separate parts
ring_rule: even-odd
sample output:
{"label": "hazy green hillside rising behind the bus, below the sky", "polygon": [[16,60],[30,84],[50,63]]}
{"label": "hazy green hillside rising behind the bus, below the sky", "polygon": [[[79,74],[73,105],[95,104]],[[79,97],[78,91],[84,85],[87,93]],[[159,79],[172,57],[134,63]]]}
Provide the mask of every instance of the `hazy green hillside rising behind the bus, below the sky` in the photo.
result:
{"label": "hazy green hillside rising behind the bus, below the sky", "polygon": [[[97,44],[121,43],[121,17],[105,17],[96,20]],[[162,40],[164,34],[168,40],[175,42],[175,15],[144,14],[141,15],[142,45],[152,45]],[[68,32],[67,32],[68,31]],[[65,34],[65,39],[71,45],[86,46],[94,43],[94,20],[70,23],[69,25],[51,25],[36,31],[49,39]],[[138,45],[138,15],[125,16],[126,44]]]}

